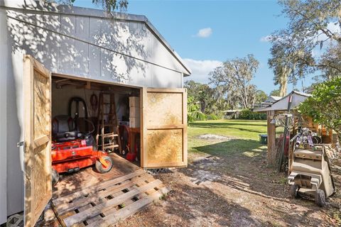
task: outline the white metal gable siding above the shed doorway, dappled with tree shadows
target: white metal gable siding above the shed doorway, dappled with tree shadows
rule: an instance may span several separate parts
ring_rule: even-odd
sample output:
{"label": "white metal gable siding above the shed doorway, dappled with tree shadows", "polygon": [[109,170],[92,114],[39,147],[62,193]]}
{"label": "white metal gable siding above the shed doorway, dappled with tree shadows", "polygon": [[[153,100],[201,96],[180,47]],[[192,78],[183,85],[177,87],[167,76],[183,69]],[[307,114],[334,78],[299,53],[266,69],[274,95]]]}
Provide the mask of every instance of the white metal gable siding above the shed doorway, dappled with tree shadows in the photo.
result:
{"label": "white metal gable siding above the shed doorway, dappled with tree shadows", "polygon": [[8,13],[15,48],[26,50],[52,72],[136,86],[182,87],[183,66],[144,22],[12,8]]}

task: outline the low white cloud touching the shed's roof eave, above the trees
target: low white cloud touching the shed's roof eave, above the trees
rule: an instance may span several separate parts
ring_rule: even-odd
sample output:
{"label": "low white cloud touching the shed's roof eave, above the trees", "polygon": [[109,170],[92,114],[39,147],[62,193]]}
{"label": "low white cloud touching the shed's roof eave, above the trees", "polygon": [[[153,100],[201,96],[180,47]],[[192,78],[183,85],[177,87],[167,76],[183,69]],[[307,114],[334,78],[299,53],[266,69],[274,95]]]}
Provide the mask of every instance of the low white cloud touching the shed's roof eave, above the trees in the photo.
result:
{"label": "low white cloud touching the shed's roof eave, above the trees", "polygon": [[185,80],[193,79],[195,82],[208,83],[208,74],[216,67],[222,65],[222,62],[217,60],[193,60],[186,58],[184,62],[192,70],[190,77],[185,77]]}

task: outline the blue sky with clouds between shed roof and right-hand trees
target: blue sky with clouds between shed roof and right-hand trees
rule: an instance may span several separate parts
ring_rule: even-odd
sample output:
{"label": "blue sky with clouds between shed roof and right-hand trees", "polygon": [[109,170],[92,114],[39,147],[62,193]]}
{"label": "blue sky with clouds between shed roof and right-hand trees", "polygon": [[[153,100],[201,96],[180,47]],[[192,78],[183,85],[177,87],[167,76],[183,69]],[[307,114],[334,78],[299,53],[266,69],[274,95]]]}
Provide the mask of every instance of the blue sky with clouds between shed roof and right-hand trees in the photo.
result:
{"label": "blue sky with clouds between shed roof and right-hand trees", "polygon": [[[91,0],[76,0],[75,6],[96,8]],[[277,1],[129,0],[127,12],[145,15],[153,23],[193,70],[188,79],[208,82],[208,72],[220,62],[254,54],[260,65],[253,83],[266,93],[277,88],[267,65],[271,45],[264,39],[286,27]]]}

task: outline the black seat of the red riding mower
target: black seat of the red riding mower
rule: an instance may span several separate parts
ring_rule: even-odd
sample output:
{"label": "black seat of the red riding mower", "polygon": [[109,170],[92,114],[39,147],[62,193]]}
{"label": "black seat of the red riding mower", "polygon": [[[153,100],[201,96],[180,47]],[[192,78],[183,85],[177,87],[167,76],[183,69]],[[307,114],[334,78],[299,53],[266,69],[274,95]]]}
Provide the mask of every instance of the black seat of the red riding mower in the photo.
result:
{"label": "black seat of the red riding mower", "polygon": [[67,142],[76,140],[83,136],[82,133],[75,128],[75,121],[67,115],[59,115],[53,118],[52,122],[53,140],[56,142]]}

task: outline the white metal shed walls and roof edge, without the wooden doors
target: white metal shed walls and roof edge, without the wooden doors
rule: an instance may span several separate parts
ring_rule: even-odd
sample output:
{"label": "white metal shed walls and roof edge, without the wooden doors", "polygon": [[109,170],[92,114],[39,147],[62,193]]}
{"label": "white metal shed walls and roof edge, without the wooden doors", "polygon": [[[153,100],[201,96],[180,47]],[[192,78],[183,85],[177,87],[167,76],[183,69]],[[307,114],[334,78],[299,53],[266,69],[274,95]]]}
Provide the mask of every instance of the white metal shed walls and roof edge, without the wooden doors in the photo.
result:
{"label": "white metal shed walls and roof edge, without the wooden doors", "polygon": [[0,0],[0,31],[0,223],[24,206],[23,55],[31,55],[55,77],[136,89],[180,91],[183,77],[191,74],[145,16]]}

